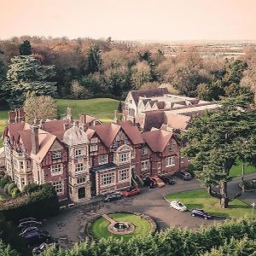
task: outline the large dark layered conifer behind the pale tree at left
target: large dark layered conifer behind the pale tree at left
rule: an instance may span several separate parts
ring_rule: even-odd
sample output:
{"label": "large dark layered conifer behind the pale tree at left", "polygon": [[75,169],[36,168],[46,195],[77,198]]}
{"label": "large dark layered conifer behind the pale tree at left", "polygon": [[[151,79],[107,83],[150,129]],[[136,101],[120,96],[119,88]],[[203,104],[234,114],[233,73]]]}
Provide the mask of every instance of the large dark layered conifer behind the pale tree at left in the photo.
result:
{"label": "large dark layered conifer behind the pale tree at left", "polygon": [[12,96],[9,104],[19,107],[27,91],[34,91],[38,96],[56,96],[54,76],[53,66],[41,65],[32,55],[15,56],[11,59],[5,85],[5,90]]}

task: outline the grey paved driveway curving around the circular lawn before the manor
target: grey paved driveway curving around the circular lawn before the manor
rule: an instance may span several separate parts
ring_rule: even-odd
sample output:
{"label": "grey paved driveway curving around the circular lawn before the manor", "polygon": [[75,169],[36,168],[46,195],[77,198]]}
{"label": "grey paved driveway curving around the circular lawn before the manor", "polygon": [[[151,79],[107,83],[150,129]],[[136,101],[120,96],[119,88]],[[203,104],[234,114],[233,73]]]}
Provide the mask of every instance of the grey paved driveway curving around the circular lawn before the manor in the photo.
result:
{"label": "grey paved driveway curving around the circular lawn before the manor", "polygon": [[[256,177],[256,174],[253,177]],[[223,218],[212,218],[210,220],[193,218],[189,212],[178,212],[171,209],[168,202],[163,199],[164,195],[200,188],[200,183],[195,179],[183,181],[176,178],[176,180],[177,183],[174,185],[166,185],[164,188],[143,189],[141,195],[124,198],[120,201],[108,203],[96,201],[91,204],[84,203],[84,205],[73,209],[63,210],[60,215],[47,220],[44,230],[49,231],[55,238],[61,239],[63,241],[61,244],[64,247],[69,247],[74,242],[84,240],[84,225],[88,220],[95,218],[96,215],[109,212],[142,212],[156,221],[159,230],[164,230],[170,226],[195,229],[201,224],[212,224],[214,220],[223,220]],[[239,178],[235,178],[230,183],[229,190],[231,194],[236,193],[238,183]]]}

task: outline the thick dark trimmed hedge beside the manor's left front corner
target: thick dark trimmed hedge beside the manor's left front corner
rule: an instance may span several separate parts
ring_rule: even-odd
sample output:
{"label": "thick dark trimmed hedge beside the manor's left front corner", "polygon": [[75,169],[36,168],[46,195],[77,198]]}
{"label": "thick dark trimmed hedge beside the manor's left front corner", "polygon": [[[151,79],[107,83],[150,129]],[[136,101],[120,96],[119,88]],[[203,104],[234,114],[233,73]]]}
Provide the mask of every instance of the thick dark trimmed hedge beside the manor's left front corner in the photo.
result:
{"label": "thick dark trimmed hedge beside the manor's left front corner", "polygon": [[58,197],[51,184],[40,185],[31,194],[0,202],[0,212],[12,221],[27,217],[49,218],[56,215],[59,209]]}

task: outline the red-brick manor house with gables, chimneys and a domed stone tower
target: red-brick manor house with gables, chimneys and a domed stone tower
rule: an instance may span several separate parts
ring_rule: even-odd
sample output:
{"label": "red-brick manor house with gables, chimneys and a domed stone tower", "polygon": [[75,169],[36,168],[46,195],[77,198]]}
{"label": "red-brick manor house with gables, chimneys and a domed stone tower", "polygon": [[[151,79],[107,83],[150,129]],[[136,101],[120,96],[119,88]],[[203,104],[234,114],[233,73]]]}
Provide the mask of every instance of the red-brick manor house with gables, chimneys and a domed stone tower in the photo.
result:
{"label": "red-brick manor house with gables, chimneys and a domed stone tower", "polygon": [[170,127],[168,122],[161,127],[152,123],[150,130],[143,131],[127,115],[124,111],[119,121],[115,111],[109,124],[85,114],[74,121],[67,108],[65,119],[35,120],[29,125],[22,109],[11,111],[3,133],[6,172],[19,189],[29,183],[52,183],[60,201],[77,202],[129,188],[144,177],[188,168],[175,133],[164,129]]}

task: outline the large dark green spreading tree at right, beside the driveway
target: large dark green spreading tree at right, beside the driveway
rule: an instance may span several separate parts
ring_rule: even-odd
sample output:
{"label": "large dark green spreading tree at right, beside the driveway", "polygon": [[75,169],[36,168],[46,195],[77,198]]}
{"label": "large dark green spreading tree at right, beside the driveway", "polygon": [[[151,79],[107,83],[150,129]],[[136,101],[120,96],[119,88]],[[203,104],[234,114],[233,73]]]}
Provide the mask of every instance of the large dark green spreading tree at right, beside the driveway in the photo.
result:
{"label": "large dark green spreading tree at right, beside the driveway", "polygon": [[[189,146],[182,153],[192,160],[196,176],[223,208],[243,193],[241,189],[232,197],[227,194],[231,167],[239,159],[252,165],[256,161],[256,111],[244,111],[247,102],[244,96],[220,102],[217,110],[195,117],[183,135]],[[219,186],[218,192],[214,186]]]}

